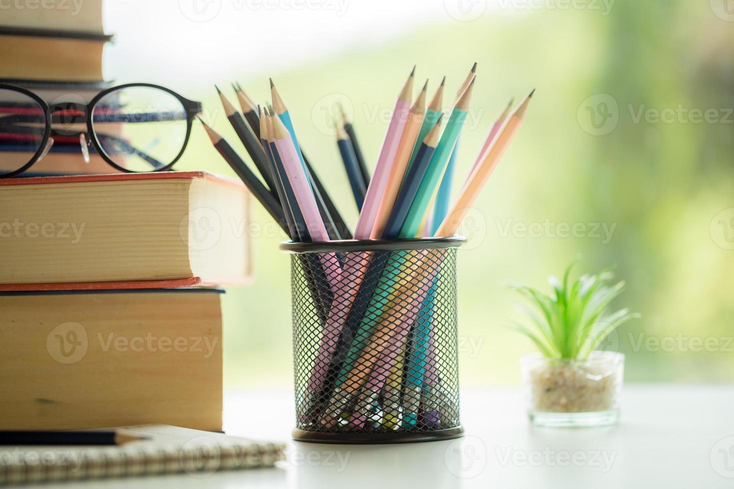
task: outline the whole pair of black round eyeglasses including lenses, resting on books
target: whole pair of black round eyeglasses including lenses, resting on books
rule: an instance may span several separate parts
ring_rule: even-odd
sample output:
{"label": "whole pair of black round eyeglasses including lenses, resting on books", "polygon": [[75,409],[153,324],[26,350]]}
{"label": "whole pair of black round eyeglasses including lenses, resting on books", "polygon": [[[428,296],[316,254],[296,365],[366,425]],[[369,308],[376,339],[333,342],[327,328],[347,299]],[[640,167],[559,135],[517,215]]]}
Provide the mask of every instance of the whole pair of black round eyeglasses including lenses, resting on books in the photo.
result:
{"label": "whole pair of black round eyeglasses including lenses, resting on books", "polygon": [[[126,84],[89,105],[43,101],[0,84],[0,178],[29,169],[54,152],[90,149],[122,172],[164,172],[181,158],[201,103],[153,84]],[[75,149],[76,148],[76,149]]]}

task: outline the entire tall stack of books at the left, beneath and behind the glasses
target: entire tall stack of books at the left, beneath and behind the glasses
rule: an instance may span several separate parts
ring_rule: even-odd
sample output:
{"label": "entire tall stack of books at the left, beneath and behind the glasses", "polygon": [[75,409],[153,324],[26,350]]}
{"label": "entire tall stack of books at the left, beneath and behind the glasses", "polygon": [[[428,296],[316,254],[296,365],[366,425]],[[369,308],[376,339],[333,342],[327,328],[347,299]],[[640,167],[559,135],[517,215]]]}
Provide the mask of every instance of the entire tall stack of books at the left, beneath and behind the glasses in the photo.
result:
{"label": "entire tall stack of books at the left, beneath and behind the glasses", "polygon": [[[49,102],[107,87],[101,0],[79,8],[3,10],[2,81]],[[221,430],[216,287],[250,276],[244,185],[114,173],[79,136],[22,176],[0,179],[0,430]]]}

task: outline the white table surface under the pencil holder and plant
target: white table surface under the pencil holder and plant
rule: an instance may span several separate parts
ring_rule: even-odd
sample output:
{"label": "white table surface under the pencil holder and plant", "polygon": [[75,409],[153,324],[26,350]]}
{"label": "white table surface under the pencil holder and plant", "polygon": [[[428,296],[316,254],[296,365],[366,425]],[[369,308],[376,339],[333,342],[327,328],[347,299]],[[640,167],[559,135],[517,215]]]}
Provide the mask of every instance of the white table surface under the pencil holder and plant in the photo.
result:
{"label": "white table surface under the pencil holder and plant", "polygon": [[[520,389],[462,392],[463,438],[401,445],[290,441],[287,392],[231,392],[225,429],[288,441],[279,468],[44,488],[734,488],[734,386],[629,385],[615,427],[532,427]],[[36,487],[36,486],[26,486]]]}

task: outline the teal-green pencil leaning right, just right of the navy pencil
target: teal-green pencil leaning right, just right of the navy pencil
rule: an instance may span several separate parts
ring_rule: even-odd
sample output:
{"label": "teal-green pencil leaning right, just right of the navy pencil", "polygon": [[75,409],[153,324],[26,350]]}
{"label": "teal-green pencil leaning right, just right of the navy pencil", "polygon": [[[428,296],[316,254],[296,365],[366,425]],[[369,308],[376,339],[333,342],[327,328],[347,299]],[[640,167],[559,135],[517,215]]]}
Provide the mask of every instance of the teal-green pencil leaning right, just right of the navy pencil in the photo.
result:
{"label": "teal-green pencil leaning right, just right of the navy pencil", "polygon": [[415,199],[413,199],[413,203],[410,205],[410,210],[408,210],[405,222],[400,230],[400,238],[415,238],[415,233],[418,232],[418,226],[421,224],[421,220],[427,210],[429,200],[435,191],[438,180],[440,179],[443,169],[446,166],[446,162],[451,155],[451,151],[454,150],[454,145],[456,144],[459,133],[461,132],[466,119],[475,80],[476,78],[473,78],[464,94],[459,98],[459,101],[454,105],[454,109],[451,111],[451,116],[446,123],[446,130],[444,130],[441,135],[438,147],[433,153],[433,157],[426,169],[424,179],[421,181],[421,185],[418,187],[418,192],[415,194]]}

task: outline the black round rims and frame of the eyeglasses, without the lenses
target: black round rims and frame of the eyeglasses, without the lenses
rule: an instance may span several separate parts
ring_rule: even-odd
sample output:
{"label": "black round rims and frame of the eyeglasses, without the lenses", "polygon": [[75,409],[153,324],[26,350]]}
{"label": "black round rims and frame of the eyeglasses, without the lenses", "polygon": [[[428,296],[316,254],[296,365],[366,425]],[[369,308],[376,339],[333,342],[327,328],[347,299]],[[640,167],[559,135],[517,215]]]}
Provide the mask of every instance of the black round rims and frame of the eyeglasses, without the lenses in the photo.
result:
{"label": "black round rims and frame of the eyeglasses, without the lenses", "polygon": [[[95,133],[95,130],[92,126],[92,117],[90,117],[90,113],[94,110],[95,105],[105,98],[107,95],[109,95],[112,92],[115,92],[119,89],[125,89],[130,87],[148,87],[148,88],[155,88],[159,90],[163,90],[164,92],[169,93],[170,95],[173,95],[176,100],[178,100],[181,103],[181,106],[183,106],[183,110],[186,111],[186,138],[183,139],[183,144],[181,145],[181,151],[178,152],[178,155],[176,155],[173,160],[168,163],[166,166],[162,166],[161,168],[156,168],[151,170],[150,172],[135,172],[134,170],[129,170],[124,168],[123,166],[118,165],[115,163],[115,161],[112,161],[112,158],[109,158],[109,156],[106,154],[106,151],[103,149],[100,141],[98,140],[97,134]],[[40,155],[43,154],[44,150],[46,149],[46,144],[48,144],[48,138],[51,137],[51,132],[53,129],[51,128],[52,124],[52,117],[51,117],[51,108],[48,106],[48,103],[46,103],[46,100],[43,100],[43,98],[40,98],[39,95],[35,94],[29,89],[18,87],[17,85],[12,84],[4,84],[0,83],[0,89],[6,89],[6,90],[13,90],[15,92],[20,92],[23,95],[28,95],[30,98],[32,98],[38,105],[43,109],[43,114],[46,119],[46,128],[43,131],[43,139],[41,140],[40,146],[38,147],[38,150],[35,152],[35,154],[32,156],[30,161],[26,163],[24,166],[21,166],[21,168],[14,170],[9,173],[0,174],[0,178],[9,178],[9,177],[15,177],[18,174],[21,174],[25,172],[27,169],[29,169],[31,166],[34,165],[34,163],[37,163]],[[97,151],[97,154],[102,157],[106,163],[108,163],[110,166],[112,166],[115,169],[120,170],[121,172],[126,173],[154,173],[154,172],[167,172],[169,171],[175,163],[181,159],[181,156],[183,155],[183,152],[186,150],[186,146],[189,144],[189,136],[191,136],[191,129],[193,122],[198,114],[202,111],[202,104],[200,102],[195,102],[194,100],[189,100],[182,95],[179,95],[178,93],[174,92],[172,89],[161,87],[160,85],[156,84],[148,84],[148,83],[129,83],[129,84],[123,84],[118,85],[117,87],[110,87],[108,89],[104,89],[102,92],[99,92],[97,95],[95,95],[94,98],[90,101],[88,104],[83,103],[76,103],[76,102],[65,102],[70,106],[71,109],[82,112],[84,114],[84,117],[87,119],[87,134],[90,136],[89,139],[92,141],[92,144],[95,147],[95,150]]]}

